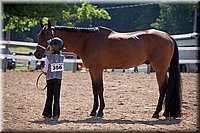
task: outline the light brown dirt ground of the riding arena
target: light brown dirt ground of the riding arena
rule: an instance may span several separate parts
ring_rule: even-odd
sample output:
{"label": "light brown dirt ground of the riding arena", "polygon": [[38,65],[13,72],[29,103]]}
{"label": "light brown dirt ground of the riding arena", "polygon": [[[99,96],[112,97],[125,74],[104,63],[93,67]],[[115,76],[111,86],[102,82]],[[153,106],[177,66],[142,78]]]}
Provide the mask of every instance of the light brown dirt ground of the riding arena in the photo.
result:
{"label": "light brown dirt ground of the riding arena", "polygon": [[[61,116],[43,121],[46,90],[35,89],[39,72],[7,71],[3,78],[3,131],[197,131],[198,74],[182,73],[183,117],[152,119],[158,100],[155,73],[104,72],[105,116],[90,117],[89,73],[64,72]],[[45,85],[41,79],[40,86]],[[163,111],[161,112],[162,115]]]}

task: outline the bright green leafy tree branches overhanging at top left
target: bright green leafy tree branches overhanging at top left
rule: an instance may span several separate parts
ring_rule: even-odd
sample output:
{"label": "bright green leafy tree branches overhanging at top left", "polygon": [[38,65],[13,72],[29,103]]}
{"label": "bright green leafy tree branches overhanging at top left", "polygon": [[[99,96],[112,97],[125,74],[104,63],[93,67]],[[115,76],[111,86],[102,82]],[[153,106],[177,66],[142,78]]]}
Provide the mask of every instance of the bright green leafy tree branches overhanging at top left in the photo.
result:
{"label": "bright green leafy tree branches overhanging at top left", "polygon": [[15,31],[30,31],[31,27],[38,25],[42,19],[47,22],[48,19],[52,23],[62,23],[68,26],[74,26],[84,20],[92,20],[92,18],[111,19],[108,12],[103,9],[97,9],[89,3],[79,5],[70,4],[4,4],[3,11],[4,29],[12,29]]}

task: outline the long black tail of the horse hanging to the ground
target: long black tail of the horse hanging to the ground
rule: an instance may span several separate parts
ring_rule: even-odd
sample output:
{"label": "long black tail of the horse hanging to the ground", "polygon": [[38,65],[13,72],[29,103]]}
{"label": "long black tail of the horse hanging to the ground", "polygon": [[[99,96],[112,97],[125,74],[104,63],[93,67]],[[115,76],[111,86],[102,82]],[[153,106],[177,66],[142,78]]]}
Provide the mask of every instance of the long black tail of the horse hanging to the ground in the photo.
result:
{"label": "long black tail of the horse hanging to the ground", "polygon": [[174,54],[169,67],[168,89],[165,97],[165,117],[181,117],[182,107],[182,82],[179,68],[179,52],[176,41],[174,43]]}

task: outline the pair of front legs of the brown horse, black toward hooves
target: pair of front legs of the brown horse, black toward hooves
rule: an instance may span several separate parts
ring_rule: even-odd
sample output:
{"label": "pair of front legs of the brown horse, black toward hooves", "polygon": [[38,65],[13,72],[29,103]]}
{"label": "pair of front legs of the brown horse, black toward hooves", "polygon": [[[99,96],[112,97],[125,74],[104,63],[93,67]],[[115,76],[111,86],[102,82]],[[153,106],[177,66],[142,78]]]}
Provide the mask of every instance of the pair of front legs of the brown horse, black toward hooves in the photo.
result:
{"label": "pair of front legs of the brown horse, black toward hooves", "polygon": [[97,116],[103,117],[103,109],[105,107],[104,97],[103,97],[103,78],[102,78],[102,69],[92,69],[90,68],[90,75],[92,79],[93,95],[94,95],[94,104],[91,112],[91,116],[96,116],[96,110],[98,109],[98,97],[100,100],[100,108]]}

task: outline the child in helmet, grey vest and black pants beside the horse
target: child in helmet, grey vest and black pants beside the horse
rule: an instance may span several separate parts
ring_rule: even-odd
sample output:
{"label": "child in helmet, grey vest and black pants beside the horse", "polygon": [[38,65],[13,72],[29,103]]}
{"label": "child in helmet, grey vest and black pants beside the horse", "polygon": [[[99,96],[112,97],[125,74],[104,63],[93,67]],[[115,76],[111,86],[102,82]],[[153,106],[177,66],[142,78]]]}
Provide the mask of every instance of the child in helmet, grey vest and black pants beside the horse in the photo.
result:
{"label": "child in helmet, grey vest and black pants beside the horse", "polygon": [[60,88],[64,69],[64,56],[60,54],[60,50],[63,49],[63,41],[56,37],[50,39],[48,43],[50,52],[45,57],[45,66],[42,69],[46,74],[47,81],[47,97],[42,115],[44,119],[58,120],[60,116]]}

